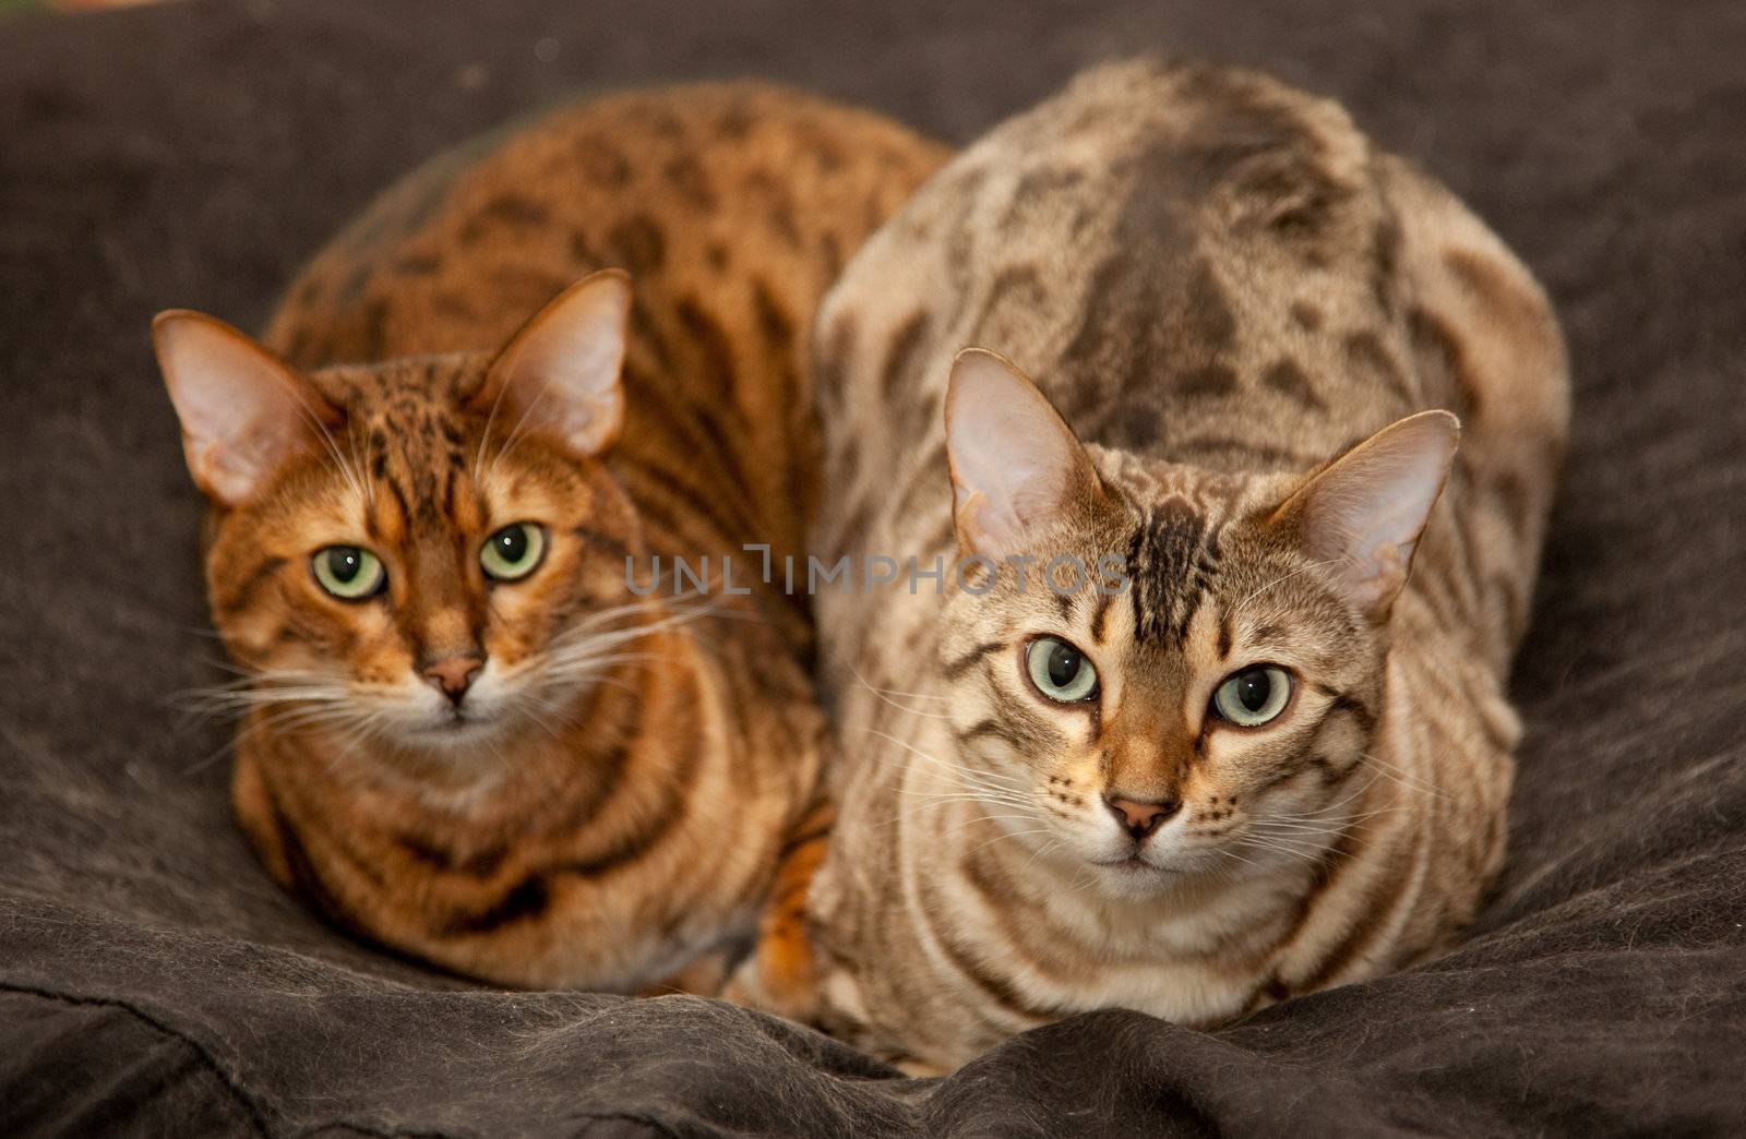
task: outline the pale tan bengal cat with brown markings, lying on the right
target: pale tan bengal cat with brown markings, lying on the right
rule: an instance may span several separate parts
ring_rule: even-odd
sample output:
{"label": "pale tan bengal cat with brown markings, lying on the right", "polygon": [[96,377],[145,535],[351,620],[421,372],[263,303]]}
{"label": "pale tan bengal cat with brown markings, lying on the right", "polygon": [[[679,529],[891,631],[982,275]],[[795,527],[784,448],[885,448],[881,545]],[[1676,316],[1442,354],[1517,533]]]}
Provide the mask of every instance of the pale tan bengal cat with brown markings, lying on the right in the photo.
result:
{"label": "pale tan bengal cat with brown markings, lying on the right", "polygon": [[918,563],[817,599],[815,957],[742,999],[929,1071],[1449,945],[1503,856],[1568,379],[1447,190],[1262,75],[1095,70],[868,241],[819,376],[815,556]]}

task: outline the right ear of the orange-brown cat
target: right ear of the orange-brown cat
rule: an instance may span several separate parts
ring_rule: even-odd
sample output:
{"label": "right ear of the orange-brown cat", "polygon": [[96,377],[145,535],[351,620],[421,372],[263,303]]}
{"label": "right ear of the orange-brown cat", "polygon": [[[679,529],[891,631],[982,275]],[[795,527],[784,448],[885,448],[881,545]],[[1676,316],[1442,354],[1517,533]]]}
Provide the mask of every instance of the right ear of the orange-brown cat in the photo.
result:
{"label": "right ear of the orange-brown cat", "polygon": [[613,445],[625,419],[630,278],[602,269],[571,285],[522,325],[492,360],[473,407],[503,431],[543,430],[574,452]]}

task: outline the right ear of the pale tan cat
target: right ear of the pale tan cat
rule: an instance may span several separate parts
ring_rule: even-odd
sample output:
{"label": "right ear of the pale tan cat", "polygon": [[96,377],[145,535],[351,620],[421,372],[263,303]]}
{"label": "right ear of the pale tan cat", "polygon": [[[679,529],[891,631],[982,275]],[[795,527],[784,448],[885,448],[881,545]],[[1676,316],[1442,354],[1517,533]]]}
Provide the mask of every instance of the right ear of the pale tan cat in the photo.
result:
{"label": "right ear of the pale tan cat", "polygon": [[1399,419],[1311,475],[1275,522],[1292,528],[1358,608],[1383,622],[1407,583],[1460,438],[1461,421],[1446,411]]}

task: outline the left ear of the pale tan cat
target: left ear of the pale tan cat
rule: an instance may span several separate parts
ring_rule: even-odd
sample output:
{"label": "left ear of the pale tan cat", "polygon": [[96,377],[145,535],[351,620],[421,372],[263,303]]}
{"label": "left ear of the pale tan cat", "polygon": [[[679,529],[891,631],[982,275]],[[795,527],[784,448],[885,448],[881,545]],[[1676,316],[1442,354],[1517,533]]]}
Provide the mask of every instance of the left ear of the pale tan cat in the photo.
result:
{"label": "left ear of the pale tan cat", "polygon": [[952,362],[946,459],[966,552],[1025,552],[1027,531],[1102,496],[1091,456],[1060,412],[1018,365],[981,348]]}

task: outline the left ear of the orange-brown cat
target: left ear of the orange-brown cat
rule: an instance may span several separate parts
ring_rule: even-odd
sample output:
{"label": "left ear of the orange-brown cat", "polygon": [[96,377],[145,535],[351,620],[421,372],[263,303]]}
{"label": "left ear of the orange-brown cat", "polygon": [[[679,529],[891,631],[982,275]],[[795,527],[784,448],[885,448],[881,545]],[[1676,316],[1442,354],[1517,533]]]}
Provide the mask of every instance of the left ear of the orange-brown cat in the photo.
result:
{"label": "left ear of the orange-brown cat", "polygon": [[189,473],[225,507],[246,503],[344,418],[292,365],[204,313],[159,313],[152,346],[182,419]]}

